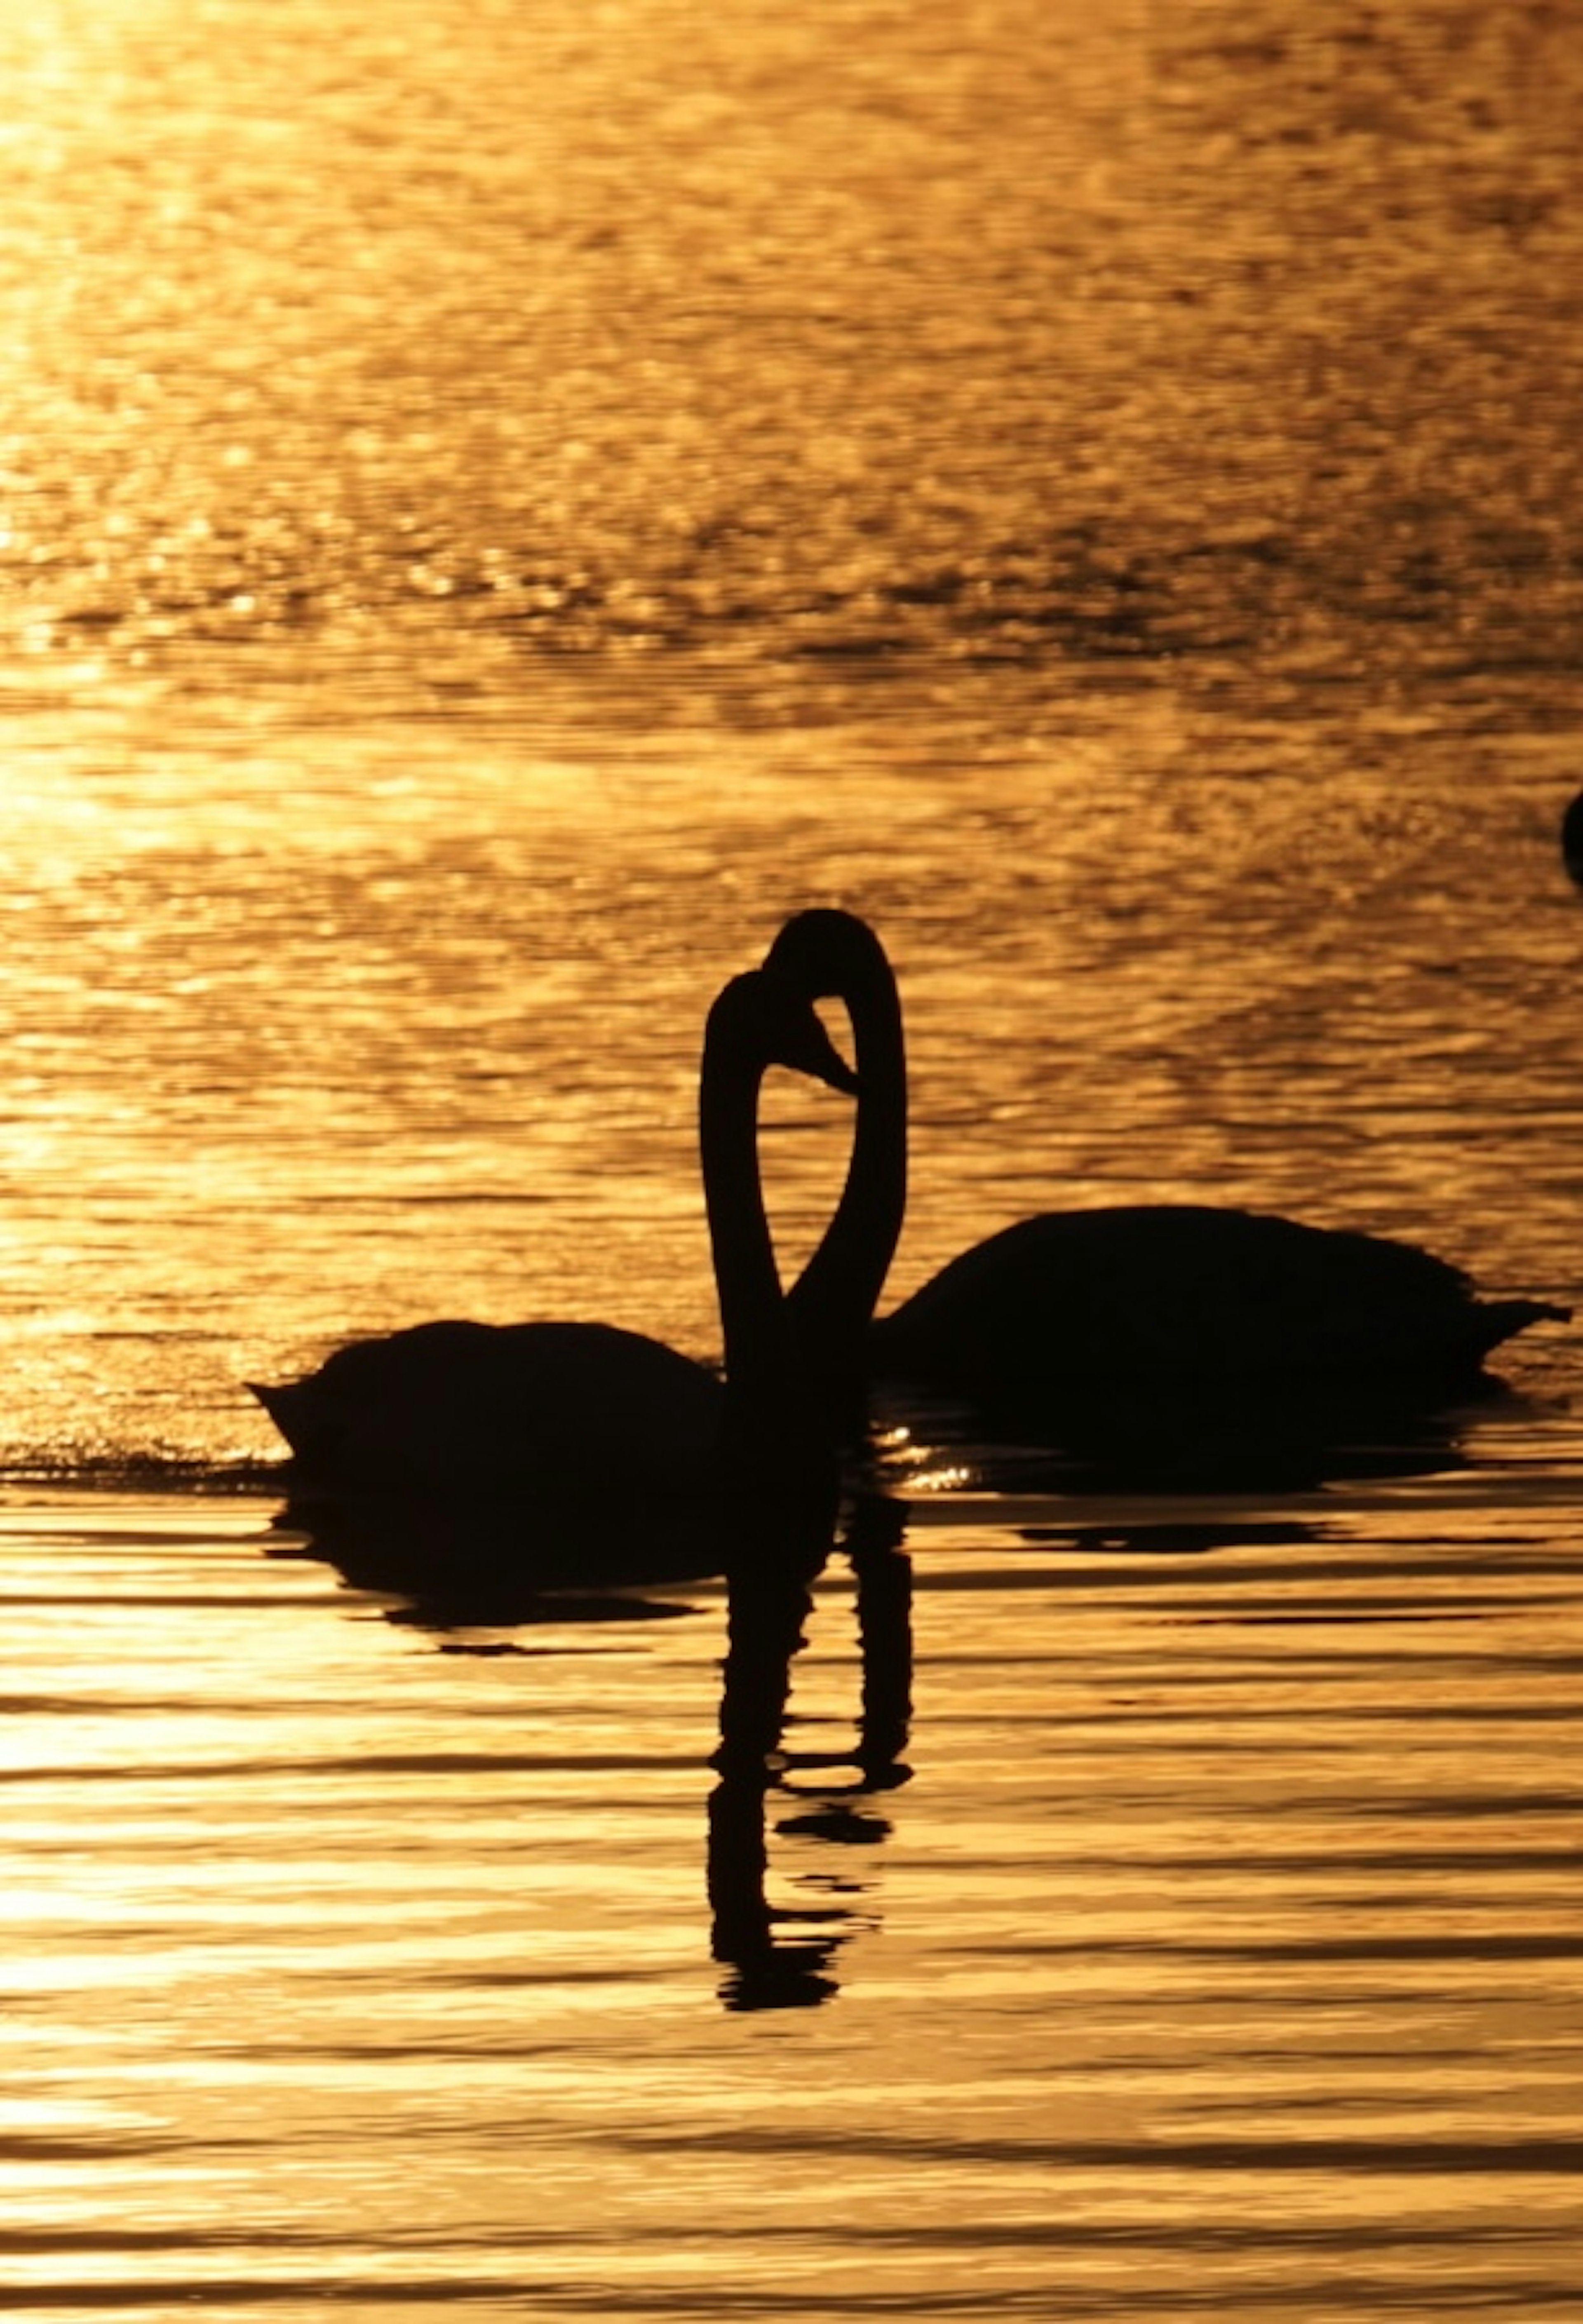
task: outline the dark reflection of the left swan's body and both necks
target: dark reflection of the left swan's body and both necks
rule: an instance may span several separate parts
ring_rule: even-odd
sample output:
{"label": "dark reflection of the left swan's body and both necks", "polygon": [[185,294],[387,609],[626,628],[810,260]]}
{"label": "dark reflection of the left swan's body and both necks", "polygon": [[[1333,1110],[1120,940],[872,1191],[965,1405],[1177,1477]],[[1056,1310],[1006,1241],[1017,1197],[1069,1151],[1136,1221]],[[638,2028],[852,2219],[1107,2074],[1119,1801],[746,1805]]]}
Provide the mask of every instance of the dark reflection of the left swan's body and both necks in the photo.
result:
{"label": "dark reflection of the left swan's body and both necks", "polygon": [[[518,1513],[521,1515],[521,1513]],[[888,1834],[874,1808],[909,1780],[902,1759],[911,1720],[911,1562],[904,1550],[907,1506],[860,1497],[837,1525],[832,1494],[767,1494],[732,1513],[735,1541],[707,1532],[688,1548],[660,1527],[632,1525],[623,1555],[597,1543],[602,1580],[593,1580],[590,1541],[565,1513],[563,1555],[544,1555],[544,1513],[535,1511],[535,1557],[523,1562],[509,1508],[384,1508],[360,1499],[291,1506],[274,1520],[270,1555],[332,1564],[356,1590],[397,1599],[391,1620],[421,1624],[463,1652],[500,1652],[458,1638],[472,1629],[674,1620],[690,1613],[676,1587],[725,1576],[728,1645],[721,1683],[716,1773],[709,1794],[707,1892],[711,1957],[725,1971],[721,2001],[732,2010],[809,2008],[837,1992],[835,1954],[865,1922],[846,1901],[855,1880],[839,1882],[816,1906],[772,1906],[769,1803],[790,1813],[776,1836],[872,1850]],[[793,1666],[807,1643],[814,1592],[839,1548],[855,1578],[862,1692],[851,1752],[793,1750],[786,1743]],[[807,1878],[807,1875],[804,1875]]]}

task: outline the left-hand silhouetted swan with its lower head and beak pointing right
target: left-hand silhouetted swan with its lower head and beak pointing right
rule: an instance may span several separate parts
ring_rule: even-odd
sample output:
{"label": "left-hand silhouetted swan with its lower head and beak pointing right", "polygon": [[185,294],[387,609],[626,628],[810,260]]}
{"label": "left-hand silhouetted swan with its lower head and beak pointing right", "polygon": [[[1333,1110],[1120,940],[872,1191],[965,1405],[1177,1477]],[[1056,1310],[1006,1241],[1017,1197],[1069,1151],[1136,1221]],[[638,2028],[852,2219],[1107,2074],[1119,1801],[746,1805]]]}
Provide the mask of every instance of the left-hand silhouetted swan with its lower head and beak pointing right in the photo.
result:
{"label": "left-hand silhouetted swan with its lower head and beak pointing right", "polygon": [[[811,1004],[772,969],[735,976],[704,1032],[700,1150],[725,1383],[600,1322],[421,1322],[337,1348],[300,1380],[246,1385],[332,1492],[535,1492],[621,1480],[695,1492],[788,1469],[828,1436],[793,1341],[758,1171],[769,1064],[855,1095]],[[879,1285],[876,1285],[879,1290]]]}

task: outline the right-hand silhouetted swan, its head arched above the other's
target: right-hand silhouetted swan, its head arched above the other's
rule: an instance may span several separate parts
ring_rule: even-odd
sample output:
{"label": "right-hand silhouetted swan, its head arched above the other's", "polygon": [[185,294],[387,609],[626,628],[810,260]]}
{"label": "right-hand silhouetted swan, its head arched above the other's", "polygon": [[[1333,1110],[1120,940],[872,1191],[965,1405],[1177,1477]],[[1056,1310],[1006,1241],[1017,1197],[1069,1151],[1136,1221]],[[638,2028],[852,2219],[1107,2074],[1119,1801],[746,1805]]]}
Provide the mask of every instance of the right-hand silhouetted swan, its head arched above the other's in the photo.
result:
{"label": "right-hand silhouetted swan, its head arched above the other's", "polygon": [[1476,1380],[1511,1334],[1569,1308],[1481,1299],[1460,1269],[1378,1234],[1211,1204],[1046,1211],[951,1260],[867,1322],[907,1199],[907,1069],[879,937],[807,911],[767,964],[853,1023],[858,1129],[830,1236],[788,1294],[809,1350],[860,1346],[869,1378],[969,1399],[1297,1383],[1402,1392]]}

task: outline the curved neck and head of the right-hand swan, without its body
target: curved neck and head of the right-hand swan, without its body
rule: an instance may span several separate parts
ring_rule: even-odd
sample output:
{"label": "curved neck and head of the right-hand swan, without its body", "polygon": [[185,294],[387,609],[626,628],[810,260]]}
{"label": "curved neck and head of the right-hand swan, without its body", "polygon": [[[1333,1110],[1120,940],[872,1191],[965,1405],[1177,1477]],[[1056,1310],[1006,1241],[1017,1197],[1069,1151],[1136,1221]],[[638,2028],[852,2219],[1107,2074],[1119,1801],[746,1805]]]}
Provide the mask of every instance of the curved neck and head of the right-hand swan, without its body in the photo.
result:
{"label": "curved neck and head of the right-hand swan, without its body", "polygon": [[809,999],[837,999],[853,1030],[858,1127],[835,1218],[788,1292],[797,1343],[862,1367],[862,1339],[907,1213],[907,1043],[902,999],[879,937],[853,913],[807,911],[776,937],[769,964]]}

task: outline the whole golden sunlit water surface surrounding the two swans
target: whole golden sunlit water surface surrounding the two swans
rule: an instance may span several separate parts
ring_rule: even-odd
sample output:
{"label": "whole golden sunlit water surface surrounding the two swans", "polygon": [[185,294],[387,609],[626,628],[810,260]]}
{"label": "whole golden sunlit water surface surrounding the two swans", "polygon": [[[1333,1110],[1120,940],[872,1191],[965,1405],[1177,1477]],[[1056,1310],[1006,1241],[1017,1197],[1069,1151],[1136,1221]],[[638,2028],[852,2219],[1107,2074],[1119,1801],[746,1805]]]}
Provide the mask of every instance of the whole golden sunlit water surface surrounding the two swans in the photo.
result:
{"label": "whole golden sunlit water surface surrounding the two swans", "polygon": [[[244,1383],[714,1355],[702,1016],[807,902],[895,1292],[1230,1199],[1583,1304],[1581,58],[0,28],[7,2312],[1578,2310],[1576,1334],[1290,1492],[918,1429],[809,1606],[358,1587]],[[846,1127],[772,1095],[793,1255]]]}

